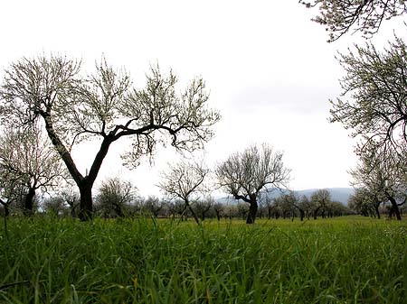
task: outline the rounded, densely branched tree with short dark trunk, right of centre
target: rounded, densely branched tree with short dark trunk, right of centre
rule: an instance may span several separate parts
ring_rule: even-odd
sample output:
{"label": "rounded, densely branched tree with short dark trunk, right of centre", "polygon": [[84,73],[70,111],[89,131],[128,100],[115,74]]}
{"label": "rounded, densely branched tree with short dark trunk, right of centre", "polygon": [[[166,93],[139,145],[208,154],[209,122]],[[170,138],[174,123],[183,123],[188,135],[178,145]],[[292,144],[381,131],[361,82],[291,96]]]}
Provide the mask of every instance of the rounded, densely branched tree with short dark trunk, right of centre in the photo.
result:
{"label": "rounded, densely branched tree with short dark trunk, right of centre", "polygon": [[289,180],[289,169],[282,161],[282,152],[263,143],[232,154],[215,170],[220,186],[235,199],[250,204],[246,223],[253,224],[258,210],[260,190],[267,186],[282,187]]}

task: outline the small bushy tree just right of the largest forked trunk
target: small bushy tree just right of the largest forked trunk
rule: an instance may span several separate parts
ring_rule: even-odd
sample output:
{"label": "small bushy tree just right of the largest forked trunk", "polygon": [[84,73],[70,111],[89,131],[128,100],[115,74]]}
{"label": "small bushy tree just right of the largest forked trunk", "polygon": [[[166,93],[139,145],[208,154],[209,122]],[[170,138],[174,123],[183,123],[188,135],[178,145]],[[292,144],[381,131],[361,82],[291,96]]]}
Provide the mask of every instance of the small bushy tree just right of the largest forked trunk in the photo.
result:
{"label": "small bushy tree just right of the largest forked trunk", "polygon": [[135,192],[131,182],[118,177],[103,181],[96,198],[101,214],[104,217],[124,217],[125,208],[135,198]]}

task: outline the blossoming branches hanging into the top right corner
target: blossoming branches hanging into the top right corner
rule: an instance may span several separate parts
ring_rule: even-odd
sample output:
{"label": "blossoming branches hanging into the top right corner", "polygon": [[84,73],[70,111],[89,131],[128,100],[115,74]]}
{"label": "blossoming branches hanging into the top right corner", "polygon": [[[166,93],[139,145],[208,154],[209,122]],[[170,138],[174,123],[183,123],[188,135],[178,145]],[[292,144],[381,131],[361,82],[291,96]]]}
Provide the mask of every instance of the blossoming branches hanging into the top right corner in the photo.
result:
{"label": "blossoming branches hanging into the top right corner", "polygon": [[379,31],[383,20],[407,13],[407,4],[400,0],[299,0],[307,7],[319,8],[319,15],[312,20],[320,23],[329,32],[328,41],[336,41],[354,28],[354,32],[362,32],[370,37]]}

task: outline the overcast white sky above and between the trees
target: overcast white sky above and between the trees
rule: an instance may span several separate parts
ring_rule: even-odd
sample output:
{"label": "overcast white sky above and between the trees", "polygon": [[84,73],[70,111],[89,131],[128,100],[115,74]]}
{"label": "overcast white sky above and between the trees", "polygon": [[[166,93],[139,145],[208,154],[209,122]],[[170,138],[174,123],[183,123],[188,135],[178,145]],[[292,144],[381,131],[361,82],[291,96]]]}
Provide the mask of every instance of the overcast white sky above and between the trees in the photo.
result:
{"label": "overcast white sky above and between the trees", "polygon": [[[81,58],[91,71],[103,53],[140,88],[158,62],[181,81],[206,80],[210,105],[222,114],[206,146],[209,164],[251,143],[270,143],[285,153],[291,189],[349,187],[355,141],[327,122],[328,99],[340,93],[336,50],[362,40],[346,35],[327,43],[325,29],[310,21],[315,14],[298,0],[2,1],[0,76],[14,60],[50,52]],[[391,39],[394,24],[402,22],[383,23],[374,41]],[[158,193],[159,171],[173,152],[157,152],[152,168],[146,161],[128,171],[120,149],[116,143],[109,152],[99,180],[122,174],[140,194]],[[92,158],[85,154],[76,153],[82,171]]]}

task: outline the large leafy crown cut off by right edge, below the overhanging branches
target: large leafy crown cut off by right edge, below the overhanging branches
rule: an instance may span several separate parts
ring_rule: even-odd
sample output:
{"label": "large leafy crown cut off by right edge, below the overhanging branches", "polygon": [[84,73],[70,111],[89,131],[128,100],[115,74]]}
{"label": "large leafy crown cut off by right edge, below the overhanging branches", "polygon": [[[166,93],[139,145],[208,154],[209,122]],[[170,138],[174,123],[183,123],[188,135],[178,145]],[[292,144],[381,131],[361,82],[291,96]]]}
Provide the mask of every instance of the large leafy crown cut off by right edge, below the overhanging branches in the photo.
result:
{"label": "large leafy crown cut off by right edge, below the overhanging branches", "polygon": [[[383,53],[372,44],[356,46],[357,55],[340,55],[339,62],[346,76],[341,80],[344,90],[331,101],[331,122],[341,122],[362,135],[366,143],[398,146],[407,143],[407,51],[396,38]],[[360,150],[363,150],[361,146]]]}

